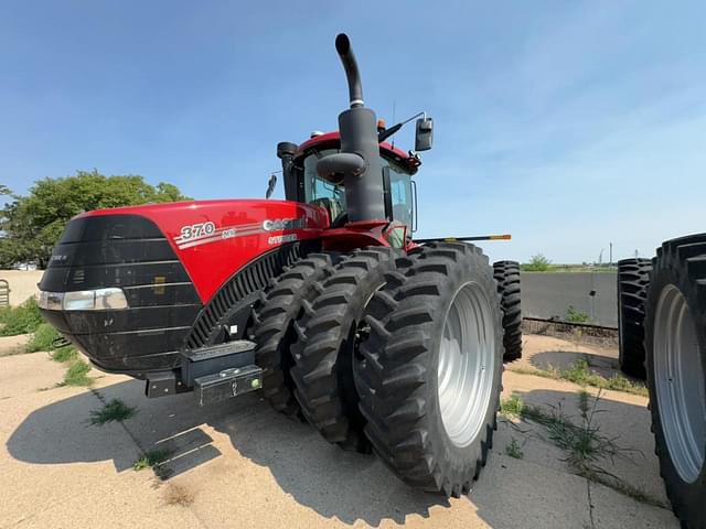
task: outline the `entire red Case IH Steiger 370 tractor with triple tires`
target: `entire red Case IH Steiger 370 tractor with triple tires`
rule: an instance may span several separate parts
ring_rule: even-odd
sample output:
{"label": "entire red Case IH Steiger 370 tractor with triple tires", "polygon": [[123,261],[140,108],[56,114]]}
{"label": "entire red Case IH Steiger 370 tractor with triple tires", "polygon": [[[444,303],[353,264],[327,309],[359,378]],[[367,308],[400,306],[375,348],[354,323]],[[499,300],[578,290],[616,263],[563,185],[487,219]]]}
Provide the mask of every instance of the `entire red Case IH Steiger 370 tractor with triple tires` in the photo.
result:
{"label": "entire red Case IH Steiger 370 tractor with triple tires", "polygon": [[[503,355],[518,357],[516,263],[413,241],[420,160],[363,106],[349,39],[339,132],[279,143],[286,201],[82,214],[42,278],[44,316],[148,397],[201,404],[259,389],[405,482],[459,496],[491,446]],[[416,150],[431,120],[417,121]],[[271,187],[271,186],[270,186]],[[505,330],[503,333],[503,322]]]}

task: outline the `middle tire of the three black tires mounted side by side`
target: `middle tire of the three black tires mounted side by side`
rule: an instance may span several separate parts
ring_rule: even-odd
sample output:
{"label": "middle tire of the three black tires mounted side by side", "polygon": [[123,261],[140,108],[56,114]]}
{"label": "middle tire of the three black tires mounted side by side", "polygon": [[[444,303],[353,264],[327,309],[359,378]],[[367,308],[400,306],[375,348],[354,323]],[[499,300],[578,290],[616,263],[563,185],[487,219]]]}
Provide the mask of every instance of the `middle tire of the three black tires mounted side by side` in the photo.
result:
{"label": "middle tire of the three black tires mounted side by side", "polygon": [[321,294],[296,323],[291,377],[306,419],[345,450],[370,453],[359,410],[353,364],[360,356],[365,307],[395,269],[400,252],[372,247],[353,251],[334,273],[318,283]]}

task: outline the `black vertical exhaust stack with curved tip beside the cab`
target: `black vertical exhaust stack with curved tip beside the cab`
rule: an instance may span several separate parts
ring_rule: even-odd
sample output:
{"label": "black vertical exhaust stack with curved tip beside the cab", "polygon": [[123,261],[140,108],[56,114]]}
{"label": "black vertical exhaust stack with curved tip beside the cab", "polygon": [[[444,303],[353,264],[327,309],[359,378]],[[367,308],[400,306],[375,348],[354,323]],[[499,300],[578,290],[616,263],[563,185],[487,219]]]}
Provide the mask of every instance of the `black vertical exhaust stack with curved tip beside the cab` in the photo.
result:
{"label": "black vertical exhaust stack with curved tip beside the cab", "polygon": [[347,35],[335,37],[335,48],[347,78],[351,108],[339,115],[341,152],[322,158],[317,173],[329,182],[343,182],[349,222],[384,220],[377,118],[363,106],[361,74]]}

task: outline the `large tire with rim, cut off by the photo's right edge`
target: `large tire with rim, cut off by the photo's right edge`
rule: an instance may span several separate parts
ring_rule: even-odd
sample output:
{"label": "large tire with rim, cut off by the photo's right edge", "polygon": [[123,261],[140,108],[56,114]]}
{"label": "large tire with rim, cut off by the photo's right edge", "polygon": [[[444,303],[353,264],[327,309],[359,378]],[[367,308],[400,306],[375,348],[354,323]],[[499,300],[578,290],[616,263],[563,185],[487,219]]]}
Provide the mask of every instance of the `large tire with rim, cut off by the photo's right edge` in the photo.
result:
{"label": "large tire with rim, cut off by the photo's right edge", "polygon": [[645,303],[650,411],[674,514],[706,528],[706,234],[664,242]]}

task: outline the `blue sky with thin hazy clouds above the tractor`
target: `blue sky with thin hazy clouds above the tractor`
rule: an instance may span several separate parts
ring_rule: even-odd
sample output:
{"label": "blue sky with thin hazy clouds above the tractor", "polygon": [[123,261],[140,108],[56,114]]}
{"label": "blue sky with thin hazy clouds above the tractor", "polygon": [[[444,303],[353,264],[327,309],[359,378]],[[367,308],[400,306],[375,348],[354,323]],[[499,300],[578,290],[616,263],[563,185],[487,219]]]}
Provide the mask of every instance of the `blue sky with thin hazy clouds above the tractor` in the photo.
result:
{"label": "blue sky with thin hazy clouds above the tractor", "polygon": [[2,1],[0,183],[95,168],[263,197],[277,142],[336,128],[346,32],[367,106],[435,119],[418,237],[651,257],[706,230],[705,20],[699,0]]}

